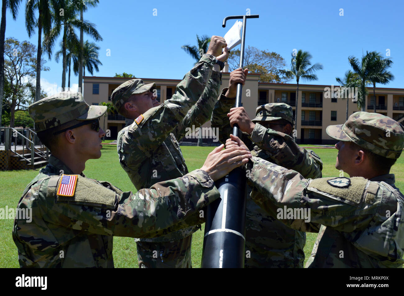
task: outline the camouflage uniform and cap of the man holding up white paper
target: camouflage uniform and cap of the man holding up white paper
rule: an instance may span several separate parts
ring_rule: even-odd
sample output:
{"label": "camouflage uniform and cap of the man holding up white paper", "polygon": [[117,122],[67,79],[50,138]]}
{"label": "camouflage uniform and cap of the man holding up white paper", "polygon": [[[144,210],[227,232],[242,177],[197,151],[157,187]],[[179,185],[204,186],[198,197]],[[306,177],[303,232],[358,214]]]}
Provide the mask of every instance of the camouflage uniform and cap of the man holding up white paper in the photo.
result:
{"label": "camouflage uniform and cap of the man holding up white paper", "polygon": [[[221,73],[212,71],[215,63],[214,56],[204,54],[177,85],[172,98],[149,109],[139,117],[140,122],[118,133],[120,164],[138,190],[188,173],[177,141],[187,127],[200,127],[212,114],[221,83]],[[125,98],[154,86],[138,80],[127,81],[114,90],[112,101],[117,109]],[[136,238],[139,267],[191,267],[192,233],[197,229],[200,225],[156,239]],[[159,258],[152,256],[155,250]]]}

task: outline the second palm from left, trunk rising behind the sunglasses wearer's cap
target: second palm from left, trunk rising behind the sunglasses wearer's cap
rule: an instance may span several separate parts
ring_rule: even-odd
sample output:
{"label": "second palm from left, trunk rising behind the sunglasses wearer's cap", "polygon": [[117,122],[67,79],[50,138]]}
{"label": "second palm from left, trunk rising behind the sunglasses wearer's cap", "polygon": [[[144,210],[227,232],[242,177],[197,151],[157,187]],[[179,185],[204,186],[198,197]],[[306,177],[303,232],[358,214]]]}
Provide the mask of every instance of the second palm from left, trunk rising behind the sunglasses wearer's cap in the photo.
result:
{"label": "second palm from left, trunk rising behind the sunglasses wearer's cap", "polygon": [[[48,35],[52,27],[52,7],[55,0],[27,0],[25,2],[25,27],[27,28],[28,37],[34,33],[38,27],[38,51],[36,55],[36,85],[35,85],[35,102],[41,99],[41,58],[42,58],[42,31]],[[38,19],[36,19],[35,11],[38,10]],[[58,10],[59,11],[59,10]]]}

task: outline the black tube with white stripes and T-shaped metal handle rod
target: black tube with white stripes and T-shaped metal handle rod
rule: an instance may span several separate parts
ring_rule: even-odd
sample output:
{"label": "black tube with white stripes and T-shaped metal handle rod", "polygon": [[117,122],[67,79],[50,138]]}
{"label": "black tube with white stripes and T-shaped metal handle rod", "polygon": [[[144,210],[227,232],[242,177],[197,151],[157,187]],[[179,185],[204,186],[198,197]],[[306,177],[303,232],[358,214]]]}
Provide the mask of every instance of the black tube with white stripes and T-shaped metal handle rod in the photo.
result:
{"label": "black tube with white stripes and T-shaped metal handle rod", "polygon": [[[236,15],[225,17],[222,27],[229,19],[243,19],[241,36],[240,67],[244,65],[244,40],[246,19],[256,19],[259,15]],[[242,84],[237,84],[236,107],[241,106]],[[240,137],[240,129],[233,127],[233,135]],[[202,268],[243,268],[246,225],[246,172],[234,169],[217,180],[215,186],[221,198],[206,208],[206,223],[202,250]]]}

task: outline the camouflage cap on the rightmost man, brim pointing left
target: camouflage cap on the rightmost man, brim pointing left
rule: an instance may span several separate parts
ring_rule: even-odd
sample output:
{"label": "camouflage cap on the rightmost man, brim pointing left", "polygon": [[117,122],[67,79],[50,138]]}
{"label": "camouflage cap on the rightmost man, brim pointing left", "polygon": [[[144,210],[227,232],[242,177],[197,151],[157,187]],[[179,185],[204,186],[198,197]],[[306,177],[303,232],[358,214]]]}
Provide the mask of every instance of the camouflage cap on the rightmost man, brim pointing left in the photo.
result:
{"label": "camouflage cap on the rightmost man, brim pointing left", "polygon": [[402,125],[378,113],[355,112],[344,124],[329,125],[326,132],[331,138],[352,141],[386,158],[399,158],[404,147]]}

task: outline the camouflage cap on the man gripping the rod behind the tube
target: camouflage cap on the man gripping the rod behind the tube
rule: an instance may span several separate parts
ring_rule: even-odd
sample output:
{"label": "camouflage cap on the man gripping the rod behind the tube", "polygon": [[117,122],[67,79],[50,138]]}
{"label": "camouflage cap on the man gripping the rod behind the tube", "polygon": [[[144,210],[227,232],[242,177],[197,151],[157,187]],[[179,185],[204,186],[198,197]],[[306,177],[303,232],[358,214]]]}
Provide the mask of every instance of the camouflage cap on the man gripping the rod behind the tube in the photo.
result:
{"label": "camouflage cap on the man gripping the rod behind the tube", "polygon": [[270,103],[258,106],[255,116],[252,122],[286,119],[293,124],[292,107],[285,103]]}

